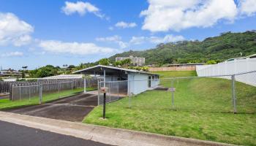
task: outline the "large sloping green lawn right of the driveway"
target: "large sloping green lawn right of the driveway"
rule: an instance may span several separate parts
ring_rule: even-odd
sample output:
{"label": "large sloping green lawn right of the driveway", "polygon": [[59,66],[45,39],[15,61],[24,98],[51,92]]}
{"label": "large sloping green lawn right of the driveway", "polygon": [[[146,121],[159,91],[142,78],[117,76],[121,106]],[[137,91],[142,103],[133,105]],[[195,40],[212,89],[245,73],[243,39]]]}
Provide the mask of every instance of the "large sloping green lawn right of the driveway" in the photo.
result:
{"label": "large sloping green lawn right of the driveway", "polygon": [[[165,74],[162,78],[180,75],[179,72],[158,73]],[[181,73],[195,75],[195,72]],[[229,80],[176,80],[175,86],[173,108],[170,93],[146,91],[132,98],[130,109],[127,98],[108,104],[108,120],[99,120],[102,107],[97,107],[83,122],[237,145],[256,144],[255,87],[236,83],[239,113],[234,115]]]}

